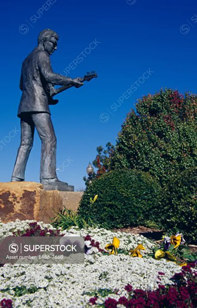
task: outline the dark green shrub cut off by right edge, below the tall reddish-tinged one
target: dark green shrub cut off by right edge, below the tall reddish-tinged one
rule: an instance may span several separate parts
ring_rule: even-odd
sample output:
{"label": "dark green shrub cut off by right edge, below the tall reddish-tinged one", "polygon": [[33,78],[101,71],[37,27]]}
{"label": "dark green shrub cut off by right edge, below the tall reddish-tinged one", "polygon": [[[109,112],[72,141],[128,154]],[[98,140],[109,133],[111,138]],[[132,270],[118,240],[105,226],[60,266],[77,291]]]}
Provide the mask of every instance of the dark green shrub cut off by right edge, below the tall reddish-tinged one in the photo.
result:
{"label": "dark green shrub cut off by right edge, below the tall reddish-tinged one", "polygon": [[163,202],[164,228],[183,232],[187,242],[197,242],[197,168],[190,168],[171,181]]}

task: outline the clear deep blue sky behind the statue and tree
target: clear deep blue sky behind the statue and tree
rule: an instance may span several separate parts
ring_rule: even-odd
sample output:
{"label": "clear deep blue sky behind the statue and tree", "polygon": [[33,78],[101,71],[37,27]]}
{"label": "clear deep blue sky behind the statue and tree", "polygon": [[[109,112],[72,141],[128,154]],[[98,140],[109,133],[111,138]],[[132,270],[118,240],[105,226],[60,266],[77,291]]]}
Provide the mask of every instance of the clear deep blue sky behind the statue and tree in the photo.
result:
{"label": "clear deep blue sky behind the statue and tree", "polygon": [[[51,56],[53,71],[65,75],[68,67],[71,78],[98,73],[83,87],[56,96],[59,103],[50,107],[59,179],[75,189],[84,187],[82,178],[96,147],[115,144],[136,99],[161,87],[196,93],[195,0],[10,0],[2,2],[1,11],[1,182],[10,181],[20,143],[21,64],[45,28],[60,35]],[[80,62],[74,65],[77,57]],[[36,132],[25,180],[39,182],[40,156]]]}

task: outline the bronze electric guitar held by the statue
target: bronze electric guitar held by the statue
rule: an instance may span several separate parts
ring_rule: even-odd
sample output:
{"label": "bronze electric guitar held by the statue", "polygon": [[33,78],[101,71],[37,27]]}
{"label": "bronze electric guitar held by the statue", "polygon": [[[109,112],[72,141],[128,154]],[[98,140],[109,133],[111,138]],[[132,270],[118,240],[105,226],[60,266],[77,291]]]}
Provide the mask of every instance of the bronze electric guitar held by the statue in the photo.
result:
{"label": "bronze electric guitar held by the statue", "polygon": [[[87,74],[83,77],[83,78],[79,78],[79,81],[80,82],[84,82],[84,81],[90,81],[91,79],[93,78],[97,78],[98,75],[95,73],[95,71],[92,71],[92,72],[87,72]],[[62,86],[62,87],[59,87],[59,88],[55,88],[52,86],[51,84],[51,87],[50,87],[50,98],[48,99],[48,104],[49,105],[56,105],[59,101],[58,99],[53,99],[53,96],[57,95],[58,93],[61,93],[71,87],[74,87],[74,85],[69,85],[69,86]]]}

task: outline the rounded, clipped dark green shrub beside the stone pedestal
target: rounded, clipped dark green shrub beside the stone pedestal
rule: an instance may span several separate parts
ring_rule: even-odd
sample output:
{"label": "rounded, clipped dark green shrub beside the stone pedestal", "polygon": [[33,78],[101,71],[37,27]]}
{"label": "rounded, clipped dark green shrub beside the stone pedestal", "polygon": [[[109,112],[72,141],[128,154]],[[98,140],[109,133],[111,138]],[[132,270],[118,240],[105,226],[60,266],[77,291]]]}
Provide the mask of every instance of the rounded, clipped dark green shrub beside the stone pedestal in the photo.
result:
{"label": "rounded, clipped dark green shrub beside the stone pedestal", "polygon": [[[94,204],[90,198],[98,194]],[[157,221],[160,206],[160,185],[145,172],[109,171],[95,179],[85,190],[79,205],[79,216],[88,217],[103,227],[122,228]]]}

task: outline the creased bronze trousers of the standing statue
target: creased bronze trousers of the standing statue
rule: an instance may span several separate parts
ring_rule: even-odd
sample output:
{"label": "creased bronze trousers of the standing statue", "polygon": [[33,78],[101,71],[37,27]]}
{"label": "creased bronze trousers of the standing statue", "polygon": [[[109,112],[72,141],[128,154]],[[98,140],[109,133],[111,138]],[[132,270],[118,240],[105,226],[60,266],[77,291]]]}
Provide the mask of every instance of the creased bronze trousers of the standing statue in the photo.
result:
{"label": "creased bronze trousers of the standing statue", "polygon": [[56,178],[56,135],[51,116],[46,112],[21,114],[21,144],[12,177],[25,179],[25,168],[33,145],[35,127],[41,139],[40,179]]}

